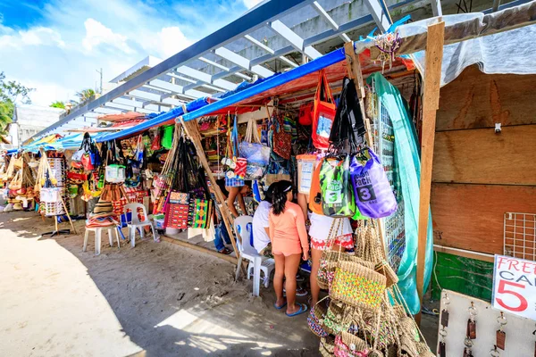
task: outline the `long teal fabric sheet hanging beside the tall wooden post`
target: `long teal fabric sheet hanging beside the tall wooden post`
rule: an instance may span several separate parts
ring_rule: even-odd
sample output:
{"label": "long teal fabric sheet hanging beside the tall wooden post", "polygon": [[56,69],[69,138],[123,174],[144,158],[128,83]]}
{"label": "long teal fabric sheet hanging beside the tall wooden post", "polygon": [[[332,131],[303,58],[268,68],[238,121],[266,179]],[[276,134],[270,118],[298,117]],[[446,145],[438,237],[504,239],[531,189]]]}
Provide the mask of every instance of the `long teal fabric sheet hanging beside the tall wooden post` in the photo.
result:
{"label": "long teal fabric sheet hanging beside the tall wooden post", "polygon": [[[411,313],[421,311],[421,303],[417,294],[417,249],[418,249],[418,223],[419,223],[419,183],[421,179],[421,159],[419,145],[414,125],[410,120],[402,95],[397,87],[374,72],[367,83],[372,84],[381,104],[386,107],[393,123],[395,132],[395,163],[398,167],[400,187],[404,195],[406,227],[406,250],[398,268],[398,287],[406,299]],[[431,228],[431,212],[429,212],[427,245],[424,266],[424,290],[428,288],[431,278],[433,233]]]}

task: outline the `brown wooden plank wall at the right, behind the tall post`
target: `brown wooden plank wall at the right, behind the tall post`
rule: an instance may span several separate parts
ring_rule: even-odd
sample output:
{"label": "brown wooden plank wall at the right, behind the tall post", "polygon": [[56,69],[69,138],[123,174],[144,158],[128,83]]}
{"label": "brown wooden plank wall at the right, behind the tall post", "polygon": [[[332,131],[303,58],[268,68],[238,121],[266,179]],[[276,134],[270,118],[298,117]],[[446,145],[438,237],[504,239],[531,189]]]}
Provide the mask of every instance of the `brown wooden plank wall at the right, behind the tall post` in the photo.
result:
{"label": "brown wooden plank wall at the right, behind the tall post", "polygon": [[435,244],[503,253],[504,213],[536,213],[534,83],[534,75],[487,75],[472,66],[441,88],[431,187]]}

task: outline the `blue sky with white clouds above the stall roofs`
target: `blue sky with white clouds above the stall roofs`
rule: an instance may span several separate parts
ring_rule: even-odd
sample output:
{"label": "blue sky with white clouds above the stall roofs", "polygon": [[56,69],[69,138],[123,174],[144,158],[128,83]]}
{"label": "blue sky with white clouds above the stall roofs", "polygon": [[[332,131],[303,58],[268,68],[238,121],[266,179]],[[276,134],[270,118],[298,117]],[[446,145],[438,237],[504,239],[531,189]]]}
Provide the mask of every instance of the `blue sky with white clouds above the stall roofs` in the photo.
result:
{"label": "blue sky with white clouds above the stall roofs", "polygon": [[0,0],[0,71],[34,104],[74,98],[147,55],[165,59],[260,0]]}

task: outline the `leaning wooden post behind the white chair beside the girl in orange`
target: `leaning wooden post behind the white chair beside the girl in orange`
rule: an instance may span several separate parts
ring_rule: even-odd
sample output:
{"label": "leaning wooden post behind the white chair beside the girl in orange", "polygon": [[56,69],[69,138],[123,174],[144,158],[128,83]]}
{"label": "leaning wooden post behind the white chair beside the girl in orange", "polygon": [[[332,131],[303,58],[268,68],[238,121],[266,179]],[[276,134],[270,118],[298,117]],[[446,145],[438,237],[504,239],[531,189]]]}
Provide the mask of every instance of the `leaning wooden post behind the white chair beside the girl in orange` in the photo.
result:
{"label": "leaning wooden post behind the white chair beside the girl in orange", "polygon": [[199,125],[197,124],[197,120],[184,121],[182,120],[182,117],[179,118],[180,122],[182,123],[182,127],[186,132],[186,135],[188,135],[188,137],[196,147],[197,157],[199,158],[199,162],[201,163],[201,165],[203,165],[203,168],[205,169],[206,176],[208,176],[210,184],[213,187],[214,195],[216,196],[216,202],[220,207],[220,212],[222,212],[223,224],[225,224],[225,228],[227,228],[227,232],[229,232],[230,243],[232,244],[232,248],[234,249],[235,254],[237,254],[237,258],[239,258],[239,250],[237,249],[237,243],[232,230],[233,220],[230,216],[229,208],[225,204],[225,198],[222,193],[222,190],[216,183],[216,179],[214,179],[214,175],[212,173],[212,170],[210,170],[210,166],[208,166],[205,151],[203,150],[203,145],[201,145],[201,134],[199,133]]}

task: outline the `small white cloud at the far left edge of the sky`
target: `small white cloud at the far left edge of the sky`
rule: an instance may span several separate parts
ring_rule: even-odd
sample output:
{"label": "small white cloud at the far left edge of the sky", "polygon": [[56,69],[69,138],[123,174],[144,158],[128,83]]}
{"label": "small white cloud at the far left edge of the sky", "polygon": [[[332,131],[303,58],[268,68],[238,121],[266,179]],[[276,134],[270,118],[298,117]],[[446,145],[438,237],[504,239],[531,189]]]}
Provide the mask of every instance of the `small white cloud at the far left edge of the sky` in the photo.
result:
{"label": "small white cloud at the far left edge of the sky", "polygon": [[[14,33],[4,28],[6,33]],[[36,27],[27,31],[19,31],[13,35],[0,36],[0,46],[21,48],[23,46],[58,46],[64,47],[62,35],[54,29]]]}

